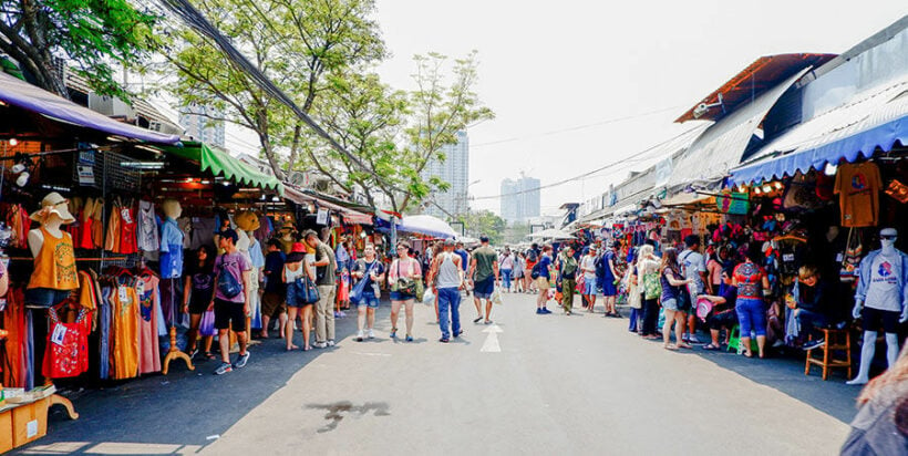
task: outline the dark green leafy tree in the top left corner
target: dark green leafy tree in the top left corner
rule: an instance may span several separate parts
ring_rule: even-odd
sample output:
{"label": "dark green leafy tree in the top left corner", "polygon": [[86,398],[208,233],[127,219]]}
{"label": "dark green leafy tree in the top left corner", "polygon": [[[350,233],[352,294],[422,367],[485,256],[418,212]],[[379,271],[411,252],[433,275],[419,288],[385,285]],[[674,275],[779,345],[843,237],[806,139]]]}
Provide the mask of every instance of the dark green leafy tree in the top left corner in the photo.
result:
{"label": "dark green leafy tree in the top left corner", "polygon": [[114,81],[115,62],[148,56],[155,15],[126,0],[0,0],[0,51],[44,90],[69,99],[59,61],[74,64],[92,89],[126,97]]}

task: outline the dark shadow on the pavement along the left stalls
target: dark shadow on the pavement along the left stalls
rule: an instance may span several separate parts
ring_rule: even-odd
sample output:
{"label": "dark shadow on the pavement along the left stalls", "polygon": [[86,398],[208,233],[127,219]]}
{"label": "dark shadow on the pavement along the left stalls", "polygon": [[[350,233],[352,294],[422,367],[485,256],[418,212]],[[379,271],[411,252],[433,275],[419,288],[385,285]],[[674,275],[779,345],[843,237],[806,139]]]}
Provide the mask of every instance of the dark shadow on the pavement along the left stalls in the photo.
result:
{"label": "dark shadow on the pavement along the left stalls", "polygon": [[[388,319],[390,304],[382,302],[376,320]],[[272,331],[272,334],[276,331]],[[357,318],[349,312],[336,320],[341,345],[308,352],[285,351],[274,335],[250,346],[244,369],[216,376],[218,361],[197,361],[195,371],[183,362],[171,364],[169,375],[148,375],[105,387],[86,387],[66,394],[80,417],[70,421],[62,411],[49,417],[48,435],[18,448],[21,454],[179,454],[195,453],[213,443],[300,369],[333,350],[351,350],[360,342]],[[301,334],[295,332],[300,345]],[[314,335],[312,335],[314,341]],[[380,341],[380,340],[375,340]],[[231,356],[236,359],[236,353]]]}

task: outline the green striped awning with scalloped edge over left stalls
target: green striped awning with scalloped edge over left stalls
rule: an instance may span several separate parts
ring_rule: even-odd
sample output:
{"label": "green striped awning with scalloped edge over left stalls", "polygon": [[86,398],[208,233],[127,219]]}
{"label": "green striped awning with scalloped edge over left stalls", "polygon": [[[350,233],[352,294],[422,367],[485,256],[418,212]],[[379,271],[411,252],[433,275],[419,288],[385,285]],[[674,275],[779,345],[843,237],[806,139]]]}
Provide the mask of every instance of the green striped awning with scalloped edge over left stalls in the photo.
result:
{"label": "green striped awning with scalloped edge over left stalls", "polygon": [[278,194],[283,195],[283,184],[276,177],[259,173],[226,152],[210,148],[203,143],[187,141],[183,143],[183,147],[163,146],[161,149],[188,160],[198,162],[202,170],[210,170],[215,176],[223,176],[241,185],[275,189]]}

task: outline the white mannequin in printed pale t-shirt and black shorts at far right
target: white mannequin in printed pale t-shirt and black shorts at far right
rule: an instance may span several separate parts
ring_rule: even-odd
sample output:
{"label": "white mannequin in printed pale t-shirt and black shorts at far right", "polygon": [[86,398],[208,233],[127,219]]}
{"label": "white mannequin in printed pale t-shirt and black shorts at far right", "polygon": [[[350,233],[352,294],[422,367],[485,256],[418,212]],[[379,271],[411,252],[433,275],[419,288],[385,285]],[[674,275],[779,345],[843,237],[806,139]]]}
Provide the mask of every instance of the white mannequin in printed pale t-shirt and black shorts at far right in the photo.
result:
{"label": "white mannequin in printed pale t-shirt and black shorts at far right", "polygon": [[860,261],[855,308],[852,317],[864,317],[864,345],[860,369],[849,385],[869,381],[870,363],[876,350],[877,329],[886,333],[886,361],[891,367],[898,356],[897,323],[908,321],[908,255],[896,249],[898,232],[892,228],[879,231],[883,246]]}

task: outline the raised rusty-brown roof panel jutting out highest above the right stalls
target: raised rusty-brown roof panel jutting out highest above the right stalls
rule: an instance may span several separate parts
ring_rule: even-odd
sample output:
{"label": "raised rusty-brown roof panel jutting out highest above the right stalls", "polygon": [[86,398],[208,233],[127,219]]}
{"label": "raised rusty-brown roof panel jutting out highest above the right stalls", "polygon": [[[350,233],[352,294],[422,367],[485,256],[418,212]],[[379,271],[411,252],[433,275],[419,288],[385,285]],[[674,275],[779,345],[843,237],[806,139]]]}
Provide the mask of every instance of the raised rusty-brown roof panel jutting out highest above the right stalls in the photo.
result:
{"label": "raised rusty-brown roof panel jutting out highest above the right stalls", "polygon": [[[836,54],[777,54],[765,55],[756,59],[729,82],[722,84],[715,92],[706,95],[703,100],[694,104],[674,122],[687,121],[718,121],[736,110],[741,104],[755,100],[764,92],[775,87],[782,81],[808,66],[817,68]],[[701,103],[719,103],[719,94],[722,94],[722,105],[711,107],[705,114],[695,117],[694,110]]]}

